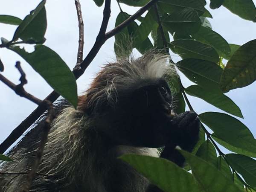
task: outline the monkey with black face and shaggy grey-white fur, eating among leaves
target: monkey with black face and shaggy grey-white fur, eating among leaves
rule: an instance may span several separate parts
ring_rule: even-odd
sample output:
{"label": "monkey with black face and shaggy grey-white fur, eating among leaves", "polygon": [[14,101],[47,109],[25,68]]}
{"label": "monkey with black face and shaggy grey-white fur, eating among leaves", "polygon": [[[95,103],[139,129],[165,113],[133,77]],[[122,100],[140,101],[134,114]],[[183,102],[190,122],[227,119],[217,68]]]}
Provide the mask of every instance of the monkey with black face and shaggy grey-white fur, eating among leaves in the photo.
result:
{"label": "monkey with black face and shaggy grey-white fur, eating among leaves", "polygon": [[[58,102],[31,192],[162,192],[117,157],[141,154],[182,167],[179,146],[198,141],[194,112],[176,114],[166,75],[177,76],[167,57],[155,52],[106,64],[75,109]],[[14,162],[1,172],[27,172],[35,158],[44,117],[8,152]],[[158,148],[165,147],[160,154]],[[0,175],[0,191],[20,190],[26,175]]]}

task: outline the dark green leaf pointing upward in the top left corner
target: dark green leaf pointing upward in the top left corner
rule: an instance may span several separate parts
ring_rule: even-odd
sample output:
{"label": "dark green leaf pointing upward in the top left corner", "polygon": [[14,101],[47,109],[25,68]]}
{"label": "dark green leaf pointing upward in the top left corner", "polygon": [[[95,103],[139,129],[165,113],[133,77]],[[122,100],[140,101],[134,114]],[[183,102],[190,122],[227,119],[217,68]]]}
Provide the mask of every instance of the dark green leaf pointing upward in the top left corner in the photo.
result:
{"label": "dark green leaf pointing upward in the top left corner", "polygon": [[41,1],[39,5],[29,14],[17,27],[12,41],[21,38],[29,43],[43,43],[44,34],[47,27],[45,4],[46,0]]}

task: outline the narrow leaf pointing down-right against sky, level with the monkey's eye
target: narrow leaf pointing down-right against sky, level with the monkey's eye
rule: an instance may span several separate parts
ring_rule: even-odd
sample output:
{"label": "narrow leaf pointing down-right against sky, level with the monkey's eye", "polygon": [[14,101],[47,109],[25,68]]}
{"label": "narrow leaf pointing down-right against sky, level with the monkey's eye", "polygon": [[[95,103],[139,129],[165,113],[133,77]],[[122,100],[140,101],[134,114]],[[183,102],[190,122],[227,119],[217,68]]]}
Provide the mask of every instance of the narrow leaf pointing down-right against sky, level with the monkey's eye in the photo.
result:
{"label": "narrow leaf pointing down-right against sky, level with the monkey's eye", "polygon": [[243,118],[241,110],[239,107],[227,96],[223,93],[204,90],[198,85],[191,85],[185,89],[186,93],[203,99],[209,104],[214,105],[216,108],[219,108],[227,113]]}

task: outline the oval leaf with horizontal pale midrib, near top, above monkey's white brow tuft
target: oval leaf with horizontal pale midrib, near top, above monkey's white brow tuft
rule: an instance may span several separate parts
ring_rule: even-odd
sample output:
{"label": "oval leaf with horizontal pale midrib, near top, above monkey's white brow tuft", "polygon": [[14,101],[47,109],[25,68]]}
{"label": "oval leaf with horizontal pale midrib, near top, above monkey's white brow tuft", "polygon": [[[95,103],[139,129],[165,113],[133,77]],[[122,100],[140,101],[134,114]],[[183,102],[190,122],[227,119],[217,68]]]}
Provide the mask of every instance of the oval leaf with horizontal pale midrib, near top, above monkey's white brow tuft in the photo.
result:
{"label": "oval leaf with horizontal pale midrib, near top, above monkey's white brow tuft", "polygon": [[163,25],[170,32],[177,32],[184,35],[191,35],[198,31],[201,26],[201,20],[194,9],[182,9],[180,12],[174,12],[163,18]]}

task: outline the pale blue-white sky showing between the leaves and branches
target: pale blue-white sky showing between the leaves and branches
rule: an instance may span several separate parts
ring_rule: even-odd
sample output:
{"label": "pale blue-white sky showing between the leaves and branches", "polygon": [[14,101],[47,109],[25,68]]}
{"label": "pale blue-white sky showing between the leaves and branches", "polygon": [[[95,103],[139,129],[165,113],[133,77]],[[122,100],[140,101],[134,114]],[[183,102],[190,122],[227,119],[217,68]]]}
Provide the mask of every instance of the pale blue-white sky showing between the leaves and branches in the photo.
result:
{"label": "pale blue-white sky showing between the leaves and branches", "polygon": [[[99,28],[102,22],[103,6],[97,7],[93,0],[80,0],[84,20],[84,57],[93,46]],[[256,0],[253,0],[256,4]],[[1,2],[0,15],[13,15],[23,19],[32,9],[40,3],[40,0],[8,0]],[[137,11],[136,7],[129,7],[121,4],[123,11],[133,14]],[[256,23],[243,20],[240,17],[229,12],[221,6],[219,9],[211,10],[207,0],[207,9],[211,12],[213,19],[209,19],[212,29],[224,37],[230,44],[242,45],[250,40],[256,39]],[[47,11],[47,31],[45,45],[57,52],[72,70],[76,64],[78,49],[79,29],[74,0],[49,0],[46,3]],[[114,28],[116,16],[119,8],[115,0],[111,4],[111,18],[108,24],[108,30]],[[0,37],[8,40],[12,39],[17,26],[0,23]],[[113,61],[115,58],[113,51],[114,38],[109,39],[102,46],[90,66],[83,76],[77,81],[78,93],[83,93],[95,74],[100,70],[103,64]],[[26,46],[26,50],[32,51],[33,46]],[[139,55],[139,54],[138,54]],[[16,61],[21,62],[21,66],[26,73],[28,84],[24,86],[25,90],[39,99],[44,99],[52,88],[46,81],[36,73],[29,64],[20,56],[8,49],[0,49],[0,58],[5,66],[5,71],[1,74],[6,76],[15,84],[19,83],[20,73],[14,67]],[[173,57],[174,61],[180,58]],[[181,75],[181,81],[184,87],[192,83]],[[256,83],[247,87],[231,90],[226,93],[241,109],[244,119],[238,118],[243,122],[256,137],[255,114],[256,114]],[[201,99],[189,96],[194,110],[200,114],[207,111],[222,112],[218,108],[202,101]],[[13,90],[0,82],[0,142],[11,133],[11,131],[20,124],[37,105],[31,101],[17,96]]]}

